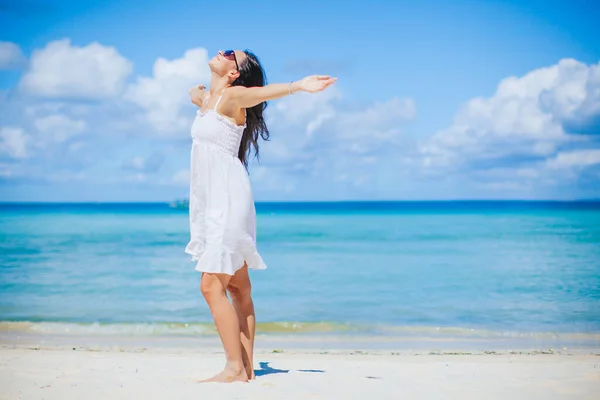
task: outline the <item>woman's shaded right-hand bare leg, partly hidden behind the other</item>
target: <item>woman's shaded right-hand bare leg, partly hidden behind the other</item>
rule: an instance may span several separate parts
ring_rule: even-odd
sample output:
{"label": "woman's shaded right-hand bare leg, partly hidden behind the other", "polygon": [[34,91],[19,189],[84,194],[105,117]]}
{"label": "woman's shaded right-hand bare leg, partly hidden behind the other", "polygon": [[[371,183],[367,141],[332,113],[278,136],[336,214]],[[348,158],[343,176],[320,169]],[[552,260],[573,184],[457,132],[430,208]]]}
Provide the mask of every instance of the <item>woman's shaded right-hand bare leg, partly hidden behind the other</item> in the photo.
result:
{"label": "woman's shaded right-hand bare leg, partly hidden behind the other", "polygon": [[242,344],[244,367],[249,379],[254,379],[254,331],[256,316],[252,301],[252,285],[248,276],[248,265],[239,269],[229,281],[227,290],[231,294],[233,307],[237,313],[240,326],[239,341]]}

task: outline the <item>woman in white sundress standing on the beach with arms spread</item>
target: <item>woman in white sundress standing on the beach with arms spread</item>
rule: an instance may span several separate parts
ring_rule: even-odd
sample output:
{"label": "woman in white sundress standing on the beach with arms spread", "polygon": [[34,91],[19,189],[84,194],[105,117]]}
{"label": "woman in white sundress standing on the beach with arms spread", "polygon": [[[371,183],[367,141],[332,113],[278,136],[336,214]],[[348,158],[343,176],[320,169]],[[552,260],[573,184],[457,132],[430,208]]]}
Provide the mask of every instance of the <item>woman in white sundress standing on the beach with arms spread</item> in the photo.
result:
{"label": "woman in white sundress standing on the beach with arms spread", "polygon": [[[254,304],[248,269],[265,269],[256,250],[256,212],[246,173],[258,140],[269,138],[263,112],[267,101],[298,91],[318,92],[329,76],[266,85],[260,62],[250,51],[219,51],[208,63],[210,90],[190,90],[200,109],[192,125],[190,237],[185,252],[202,272],[206,299],[225,349],[225,369],[203,382],[254,379]],[[231,303],[227,298],[231,296]]]}

